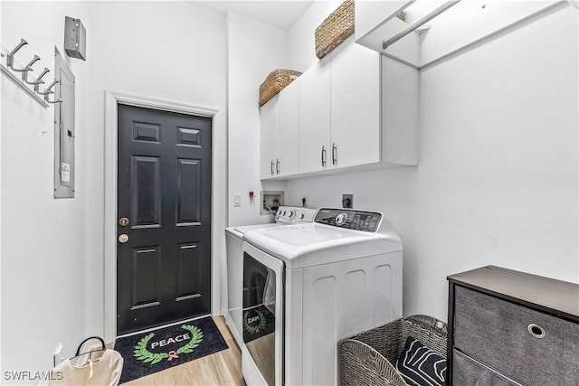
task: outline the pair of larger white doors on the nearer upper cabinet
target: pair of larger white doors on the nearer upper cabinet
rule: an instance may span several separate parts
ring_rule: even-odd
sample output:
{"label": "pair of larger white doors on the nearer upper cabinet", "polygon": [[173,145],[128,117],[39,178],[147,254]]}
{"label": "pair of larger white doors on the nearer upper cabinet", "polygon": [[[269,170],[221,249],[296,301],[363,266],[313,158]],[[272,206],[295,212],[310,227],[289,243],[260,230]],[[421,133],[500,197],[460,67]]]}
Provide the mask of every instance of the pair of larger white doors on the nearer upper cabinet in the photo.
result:
{"label": "pair of larger white doors on the nearer upper cabinet", "polygon": [[299,173],[379,162],[379,54],[350,38],[300,80]]}

